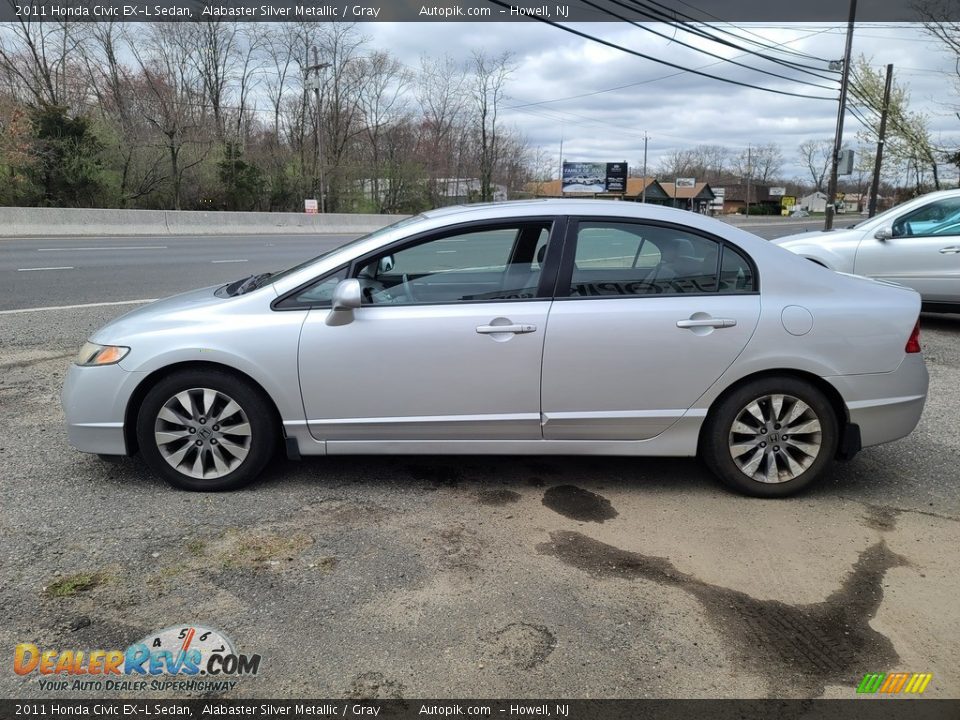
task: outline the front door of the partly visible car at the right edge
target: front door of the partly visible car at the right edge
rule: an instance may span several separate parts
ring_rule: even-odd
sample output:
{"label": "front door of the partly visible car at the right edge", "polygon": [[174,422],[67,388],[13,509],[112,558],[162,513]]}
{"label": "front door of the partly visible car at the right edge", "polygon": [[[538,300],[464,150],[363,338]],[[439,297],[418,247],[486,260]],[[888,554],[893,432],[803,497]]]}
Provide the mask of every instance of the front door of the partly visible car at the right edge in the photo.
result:
{"label": "front door of the partly visible car at the right edge", "polygon": [[890,235],[863,238],[855,273],[912,287],[927,303],[960,302],[960,198],[941,198],[900,215]]}

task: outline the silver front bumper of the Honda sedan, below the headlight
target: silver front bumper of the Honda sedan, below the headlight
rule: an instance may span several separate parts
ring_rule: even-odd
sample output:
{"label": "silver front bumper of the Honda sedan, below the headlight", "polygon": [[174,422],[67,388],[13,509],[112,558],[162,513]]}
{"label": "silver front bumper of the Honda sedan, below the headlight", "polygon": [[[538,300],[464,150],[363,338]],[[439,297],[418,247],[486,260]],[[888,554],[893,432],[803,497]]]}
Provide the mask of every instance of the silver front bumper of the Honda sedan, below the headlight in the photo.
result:
{"label": "silver front bumper of the Honda sedan, below the headlight", "polygon": [[71,365],[60,394],[70,444],[82,452],[127,455],[124,416],[144,375],[119,365]]}

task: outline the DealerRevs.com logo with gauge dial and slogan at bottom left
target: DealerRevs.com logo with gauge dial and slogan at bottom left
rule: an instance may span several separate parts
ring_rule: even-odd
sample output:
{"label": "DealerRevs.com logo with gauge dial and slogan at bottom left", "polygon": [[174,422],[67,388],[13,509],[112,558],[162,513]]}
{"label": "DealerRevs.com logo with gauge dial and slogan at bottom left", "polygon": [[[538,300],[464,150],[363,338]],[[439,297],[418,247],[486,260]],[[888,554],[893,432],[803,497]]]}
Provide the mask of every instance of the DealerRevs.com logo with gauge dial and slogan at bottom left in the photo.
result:
{"label": "DealerRevs.com logo with gauge dial and slogan at bottom left", "polygon": [[20,643],[17,675],[36,675],[43,690],[230,690],[260,671],[261,656],[244,655],[219,630],[174,625],[126,650],[44,649]]}

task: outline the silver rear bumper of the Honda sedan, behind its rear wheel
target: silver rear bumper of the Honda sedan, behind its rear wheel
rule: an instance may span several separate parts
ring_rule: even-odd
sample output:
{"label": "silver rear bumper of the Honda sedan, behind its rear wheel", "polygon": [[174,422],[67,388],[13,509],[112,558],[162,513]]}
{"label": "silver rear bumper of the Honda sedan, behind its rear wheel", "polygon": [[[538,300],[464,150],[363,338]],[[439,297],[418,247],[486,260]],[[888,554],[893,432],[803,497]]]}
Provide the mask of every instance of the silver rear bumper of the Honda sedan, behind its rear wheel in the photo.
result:
{"label": "silver rear bumper of the Honda sedan, behind its rear wheel", "polygon": [[906,355],[893,372],[825,378],[843,397],[862,447],[909,435],[920,422],[929,378],[920,353]]}

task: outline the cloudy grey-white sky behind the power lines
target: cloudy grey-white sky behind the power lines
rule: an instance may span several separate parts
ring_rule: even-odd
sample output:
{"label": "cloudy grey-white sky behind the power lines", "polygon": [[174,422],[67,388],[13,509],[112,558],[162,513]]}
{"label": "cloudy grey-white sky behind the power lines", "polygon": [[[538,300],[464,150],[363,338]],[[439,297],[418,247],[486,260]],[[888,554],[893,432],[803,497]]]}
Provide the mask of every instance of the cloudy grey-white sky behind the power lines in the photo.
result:
{"label": "cloudy grey-white sky behind the power lines", "polygon": [[[776,95],[737,87],[651,62],[590,42],[536,22],[513,23],[369,23],[362,26],[372,44],[390,50],[416,67],[423,53],[444,53],[466,60],[473,50],[490,54],[511,51],[517,69],[508,88],[503,117],[519,128],[534,147],[555,158],[560,142],[567,160],[620,161],[634,165],[649,135],[649,163],[660,156],[700,143],[722,144],[733,151],[748,143],[778,143],[787,177],[804,176],[797,146],[808,138],[832,139],[838,82],[821,80],[765,62],[743,51],[677,33],[675,40],[724,58],[826,86],[820,89],[763,75],[683,47],[626,23],[575,25],[579,30],[685,68],[697,68],[748,84],[799,93]],[[671,34],[662,25],[650,27]],[[730,25],[721,26],[731,32]],[[739,25],[756,41],[824,60],[843,56],[845,25],[771,23]],[[911,108],[930,118],[935,141],[960,144],[960,92],[955,86],[956,58],[926,35],[918,24],[858,24],[853,54],[864,54],[882,68],[895,66],[895,80],[909,88]],[[779,57],[824,67],[795,55]],[[829,73],[823,73],[829,75]],[[834,74],[834,77],[839,77]],[[816,96],[833,98],[818,100]],[[847,116],[844,138],[855,143],[857,120]]]}

